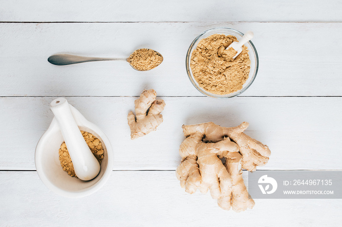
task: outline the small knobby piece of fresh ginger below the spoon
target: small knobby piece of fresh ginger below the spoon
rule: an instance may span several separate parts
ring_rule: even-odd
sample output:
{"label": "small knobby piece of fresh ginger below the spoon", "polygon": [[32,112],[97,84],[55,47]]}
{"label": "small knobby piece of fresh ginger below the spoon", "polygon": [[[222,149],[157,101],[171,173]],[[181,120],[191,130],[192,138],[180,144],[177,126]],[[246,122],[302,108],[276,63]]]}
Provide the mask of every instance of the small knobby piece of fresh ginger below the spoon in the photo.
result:
{"label": "small knobby piece of fresh ginger below the spoon", "polygon": [[140,97],[134,101],[135,116],[129,112],[127,119],[130,128],[130,138],[136,139],[152,131],[163,122],[160,114],[165,107],[162,99],[156,100],[157,93],[153,90],[144,90]]}

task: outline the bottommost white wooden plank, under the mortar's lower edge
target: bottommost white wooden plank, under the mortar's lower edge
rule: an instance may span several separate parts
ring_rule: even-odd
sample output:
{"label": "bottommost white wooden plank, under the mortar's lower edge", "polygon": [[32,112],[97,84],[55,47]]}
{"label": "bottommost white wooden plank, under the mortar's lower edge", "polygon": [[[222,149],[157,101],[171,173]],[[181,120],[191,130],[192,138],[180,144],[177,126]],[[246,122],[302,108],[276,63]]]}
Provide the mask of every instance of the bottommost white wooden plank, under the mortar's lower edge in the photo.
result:
{"label": "bottommost white wooden plank, under the mortar's lower edge", "polygon": [[79,199],[49,191],[35,171],[1,171],[0,181],[3,226],[338,226],[342,221],[341,199],[256,199],[251,210],[226,211],[209,193],[186,193],[174,171],[113,171],[102,189]]}

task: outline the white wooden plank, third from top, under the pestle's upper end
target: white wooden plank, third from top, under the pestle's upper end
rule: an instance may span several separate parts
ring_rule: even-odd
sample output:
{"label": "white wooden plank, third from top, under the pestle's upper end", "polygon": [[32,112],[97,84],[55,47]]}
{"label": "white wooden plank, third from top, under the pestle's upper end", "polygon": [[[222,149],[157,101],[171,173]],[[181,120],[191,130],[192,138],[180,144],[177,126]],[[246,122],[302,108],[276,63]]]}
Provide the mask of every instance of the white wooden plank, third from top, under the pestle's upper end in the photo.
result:
{"label": "white wooden plank, third from top, under the pestle's upper end", "polygon": [[[157,93],[159,90],[157,89]],[[35,170],[34,151],[53,114],[53,97],[0,98],[0,166]],[[163,97],[164,122],[156,132],[130,140],[127,114],[135,97],[68,97],[98,125],[114,149],[114,170],[175,170],[183,124],[214,121],[237,126],[267,144],[272,155],[260,170],[342,170],[342,97]]]}

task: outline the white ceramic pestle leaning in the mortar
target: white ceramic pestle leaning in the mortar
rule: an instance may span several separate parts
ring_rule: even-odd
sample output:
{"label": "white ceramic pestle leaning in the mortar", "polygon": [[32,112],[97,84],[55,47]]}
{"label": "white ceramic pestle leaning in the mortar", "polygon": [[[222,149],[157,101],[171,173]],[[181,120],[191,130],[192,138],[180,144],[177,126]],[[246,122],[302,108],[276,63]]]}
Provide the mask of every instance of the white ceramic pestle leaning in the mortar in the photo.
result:
{"label": "white ceramic pestle leaning in the mortar", "polygon": [[57,98],[50,103],[50,109],[62,132],[76,176],[84,181],[95,178],[100,172],[100,164],[86,144],[68,102],[65,98]]}

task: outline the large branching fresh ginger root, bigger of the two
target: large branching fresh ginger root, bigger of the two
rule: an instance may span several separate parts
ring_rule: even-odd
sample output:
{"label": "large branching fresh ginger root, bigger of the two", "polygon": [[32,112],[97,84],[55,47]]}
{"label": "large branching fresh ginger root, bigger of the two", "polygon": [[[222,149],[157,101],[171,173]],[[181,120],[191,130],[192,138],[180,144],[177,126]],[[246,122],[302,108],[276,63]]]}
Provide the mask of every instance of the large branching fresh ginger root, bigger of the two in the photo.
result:
{"label": "large branching fresh ginger root, bigger of the two", "polygon": [[[271,151],[266,145],[243,133],[243,122],[237,127],[221,127],[213,122],[183,125],[186,139],[179,148],[182,162],[176,170],[182,188],[192,194],[210,190],[219,207],[236,212],[253,208],[242,179],[242,168],[256,170],[265,165]],[[221,161],[224,159],[224,164]]]}

